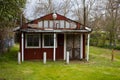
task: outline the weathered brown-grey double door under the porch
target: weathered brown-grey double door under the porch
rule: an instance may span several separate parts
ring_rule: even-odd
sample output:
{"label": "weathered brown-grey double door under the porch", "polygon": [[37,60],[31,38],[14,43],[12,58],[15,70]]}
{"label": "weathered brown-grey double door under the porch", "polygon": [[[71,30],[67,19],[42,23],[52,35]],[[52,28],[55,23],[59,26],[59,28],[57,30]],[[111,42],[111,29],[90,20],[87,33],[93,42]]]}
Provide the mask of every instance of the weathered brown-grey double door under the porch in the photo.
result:
{"label": "weathered brown-grey double door under the porch", "polygon": [[70,59],[79,59],[80,36],[79,34],[67,34],[67,51],[70,52]]}

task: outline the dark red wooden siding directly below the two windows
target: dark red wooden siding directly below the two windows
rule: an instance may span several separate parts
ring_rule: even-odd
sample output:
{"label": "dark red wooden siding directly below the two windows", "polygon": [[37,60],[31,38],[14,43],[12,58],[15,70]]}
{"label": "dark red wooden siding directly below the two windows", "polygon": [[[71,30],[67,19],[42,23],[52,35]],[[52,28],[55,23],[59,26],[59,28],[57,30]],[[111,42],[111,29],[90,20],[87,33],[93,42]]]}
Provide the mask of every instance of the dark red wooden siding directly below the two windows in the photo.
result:
{"label": "dark red wooden siding directly below the two windows", "polygon": [[24,58],[25,60],[43,59],[44,52],[47,53],[47,59],[53,58],[52,48],[25,48]]}

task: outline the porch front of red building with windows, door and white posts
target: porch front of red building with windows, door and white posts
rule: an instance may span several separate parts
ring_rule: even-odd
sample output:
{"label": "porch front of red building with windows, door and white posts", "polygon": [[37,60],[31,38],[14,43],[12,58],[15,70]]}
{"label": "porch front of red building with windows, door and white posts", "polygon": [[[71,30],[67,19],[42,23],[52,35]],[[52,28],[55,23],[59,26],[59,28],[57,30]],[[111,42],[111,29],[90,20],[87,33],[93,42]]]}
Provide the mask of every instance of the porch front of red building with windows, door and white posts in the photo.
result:
{"label": "porch front of red building with windows, door and white posts", "polygon": [[[83,33],[22,33],[22,61],[42,60],[44,52],[47,53],[46,58],[49,60],[66,60],[67,51],[70,60],[87,59],[89,51],[88,49],[85,51],[85,41],[88,35]],[[89,48],[89,44],[87,45]]]}

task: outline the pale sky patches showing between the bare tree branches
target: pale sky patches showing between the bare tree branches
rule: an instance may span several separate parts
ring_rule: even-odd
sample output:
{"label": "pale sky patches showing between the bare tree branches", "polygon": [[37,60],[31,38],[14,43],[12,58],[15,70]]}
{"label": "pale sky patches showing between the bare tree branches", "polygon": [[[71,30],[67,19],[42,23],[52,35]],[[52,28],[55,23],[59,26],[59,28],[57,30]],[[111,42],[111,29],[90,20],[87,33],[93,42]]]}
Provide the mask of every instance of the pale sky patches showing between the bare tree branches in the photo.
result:
{"label": "pale sky patches showing between the bare tree branches", "polygon": [[[40,8],[39,5],[38,5],[39,1],[44,2],[44,1],[47,1],[47,0],[27,0],[26,1],[26,6],[25,6],[25,9],[24,9],[24,13],[23,13],[25,15],[25,18],[27,18],[28,20],[34,20],[38,17],[41,17],[41,16],[45,15],[44,13],[41,13],[41,12],[36,10],[37,8]],[[63,0],[53,0],[53,1],[55,2],[54,5],[59,5],[59,4],[62,3]],[[78,0],[78,1],[81,1],[81,0]],[[86,1],[88,1],[88,0],[86,0]],[[99,7],[99,5],[102,5],[102,3],[103,3],[102,1],[105,1],[105,0],[100,0],[100,1],[98,1],[98,3],[96,3],[98,7]],[[72,3],[72,4],[74,4],[74,7],[72,9],[78,8],[77,4],[75,3],[75,0],[73,0],[73,2],[74,3]],[[79,2],[79,5],[82,8],[82,6],[83,6],[82,2]],[[68,18],[71,18],[71,16],[69,15]]]}

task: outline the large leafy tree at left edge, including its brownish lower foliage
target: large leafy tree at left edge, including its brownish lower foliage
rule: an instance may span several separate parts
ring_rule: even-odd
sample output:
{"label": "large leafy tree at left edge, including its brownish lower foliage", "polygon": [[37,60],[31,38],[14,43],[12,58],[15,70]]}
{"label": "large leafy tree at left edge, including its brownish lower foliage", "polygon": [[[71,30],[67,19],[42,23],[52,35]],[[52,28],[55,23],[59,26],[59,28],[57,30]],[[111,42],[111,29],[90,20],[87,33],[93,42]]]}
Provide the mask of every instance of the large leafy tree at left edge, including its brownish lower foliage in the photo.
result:
{"label": "large leafy tree at left edge, including its brownish lower foliage", "polygon": [[24,3],[25,0],[0,0],[0,52],[4,50],[4,40],[12,36],[12,29],[19,20],[20,8]]}

